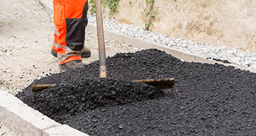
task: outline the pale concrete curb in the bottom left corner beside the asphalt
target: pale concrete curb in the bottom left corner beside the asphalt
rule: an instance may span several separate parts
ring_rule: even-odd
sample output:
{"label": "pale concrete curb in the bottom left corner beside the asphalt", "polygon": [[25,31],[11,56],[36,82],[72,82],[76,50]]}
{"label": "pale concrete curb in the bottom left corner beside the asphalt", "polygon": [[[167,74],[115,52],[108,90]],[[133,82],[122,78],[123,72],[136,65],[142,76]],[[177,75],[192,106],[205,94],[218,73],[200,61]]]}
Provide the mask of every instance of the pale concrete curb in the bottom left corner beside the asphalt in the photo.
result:
{"label": "pale concrete curb in the bottom left corner beside the asphalt", "polygon": [[9,128],[15,135],[88,136],[68,125],[61,125],[53,121],[3,90],[0,90],[0,123]]}

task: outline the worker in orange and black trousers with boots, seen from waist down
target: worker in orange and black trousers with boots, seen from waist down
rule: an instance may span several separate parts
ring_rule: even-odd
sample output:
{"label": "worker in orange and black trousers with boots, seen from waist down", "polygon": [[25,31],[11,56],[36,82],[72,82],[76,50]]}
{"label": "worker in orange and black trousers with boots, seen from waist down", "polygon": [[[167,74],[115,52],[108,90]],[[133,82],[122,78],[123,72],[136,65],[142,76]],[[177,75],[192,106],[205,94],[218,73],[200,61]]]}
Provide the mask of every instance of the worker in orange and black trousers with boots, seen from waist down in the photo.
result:
{"label": "worker in orange and black trousers with boots, seen from waist down", "polygon": [[51,54],[58,58],[59,70],[84,66],[83,58],[91,56],[84,47],[88,24],[88,0],[53,0],[55,33]]}

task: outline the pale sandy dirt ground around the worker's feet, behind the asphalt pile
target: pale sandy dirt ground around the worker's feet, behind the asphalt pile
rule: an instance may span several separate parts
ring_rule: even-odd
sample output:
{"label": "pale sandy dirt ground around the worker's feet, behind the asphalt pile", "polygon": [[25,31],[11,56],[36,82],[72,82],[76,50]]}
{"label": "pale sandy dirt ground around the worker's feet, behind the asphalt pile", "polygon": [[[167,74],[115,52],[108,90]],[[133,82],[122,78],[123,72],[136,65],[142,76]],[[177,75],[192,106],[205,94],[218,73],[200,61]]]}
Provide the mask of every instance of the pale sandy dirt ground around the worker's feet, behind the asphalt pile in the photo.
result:
{"label": "pale sandy dirt ground around the worker's feet, behind the asphalt pile", "polygon": [[[50,53],[53,44],[53,15],[35,0],[0,0],[0,89],[16,94],[33,80],[59,72],[57,58]],[[90,20],[89,20],[90,23]],[[98,60],[97,36],[86,33],[85,46]],[[133,47],[106,42],[106,56],[135,52]]]}

